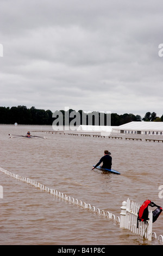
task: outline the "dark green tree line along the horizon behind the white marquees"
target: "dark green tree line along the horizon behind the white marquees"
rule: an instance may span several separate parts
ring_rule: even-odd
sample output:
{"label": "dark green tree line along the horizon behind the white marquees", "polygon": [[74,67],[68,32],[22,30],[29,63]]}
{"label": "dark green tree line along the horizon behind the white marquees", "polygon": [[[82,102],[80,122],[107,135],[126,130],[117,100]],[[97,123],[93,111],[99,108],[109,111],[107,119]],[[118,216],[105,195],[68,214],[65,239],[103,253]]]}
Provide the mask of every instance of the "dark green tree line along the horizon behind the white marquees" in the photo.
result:
{"label": "dark green tree line along the horizon behind the white marquees", "polygon": [[[68,110],[68,114],[70,114],[73,109]],[[65,111],[60,111],[63,115],[63,120],[65,121]],[[74,112],[74,111],[73,111]],[[77,113],[77,112],[76,112]],[[85,113],[82,110],[79,110],[78,113],[80,114],[80,124],[87,124],[84,123],[84,120],[89,119],[89,115],[91,113]],[[94,112],[92,112],[94,113]],[[96,112],[99,114],[100,120],[100,112]],[[84,119],[83,117],[85,117]],[[106,114],[105,114],[106,115]],[[53,121],[56,119],[53,118],[53,113],[51,110],[45,111],[44,109],[36,109],[35,107],[27,108],[26,106],[17,106],[17,107],[0,107],[0,124],[22,124],[22,125],[52,125]],[[73,118],[70,118],[69,121],[71,122]],[[93,115],[92,115],[93,119]],[[105,118],[106,120],[106,118]],[[94,121],[94,120],[92,120]],[[161,117],[157,117],[156,113],[147,112],[145,117],[141,118],[140,115],[134,114],[117,114],[111,113],[111,126],[119,126],[122,124],[129,123],[131,121],[163,121],[163,114]],[[95,123],[92,123],[95,125]],[[99,121],[99,125],[100,121]],[[106,125],[106,121],[105,124]]]}

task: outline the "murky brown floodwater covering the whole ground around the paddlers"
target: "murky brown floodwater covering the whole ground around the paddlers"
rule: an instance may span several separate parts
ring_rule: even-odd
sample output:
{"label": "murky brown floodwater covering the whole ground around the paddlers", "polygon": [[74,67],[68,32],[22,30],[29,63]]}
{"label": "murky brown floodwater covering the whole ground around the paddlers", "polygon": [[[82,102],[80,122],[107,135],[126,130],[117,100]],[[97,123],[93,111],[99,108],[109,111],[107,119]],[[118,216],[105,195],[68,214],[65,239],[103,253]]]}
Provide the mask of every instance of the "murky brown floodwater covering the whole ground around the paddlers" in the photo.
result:
{"label": "murky brown floodwater covering the whole ground around the paddlers", "polygon": [[[47,139],[10,138],[9,134]],[[163,206],[163,143],[46,133],[51,126],[0,126],[0,167],[120,217],[127,198],[140,205],[151,199]],[[113,135],[115,136],[115,135]],[[129,135],[127,135],[129,137]],[[152,136],[151,136],[152,138]],[[154,136],[163,139],[163,136]],[[121,175],[91,170],[108,149],[112,169]],[[0,172],[0,245],[159,245],[120,229],[120,224],[41,191]],[[163,235],[163,214],[153,223]],[[162,244],[162,243],[161,243]]]}

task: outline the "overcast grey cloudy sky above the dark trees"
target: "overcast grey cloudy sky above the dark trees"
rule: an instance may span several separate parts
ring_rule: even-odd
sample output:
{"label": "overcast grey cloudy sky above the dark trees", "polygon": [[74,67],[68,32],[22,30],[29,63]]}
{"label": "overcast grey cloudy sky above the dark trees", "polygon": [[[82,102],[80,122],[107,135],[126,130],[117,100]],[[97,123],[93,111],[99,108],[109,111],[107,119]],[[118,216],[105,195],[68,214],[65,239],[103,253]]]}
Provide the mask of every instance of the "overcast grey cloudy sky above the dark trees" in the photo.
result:
{"label": "overcast grey cloudy sky above the dark trees", "polygon": [[0,106],[161,117],[162,24],[161,0],[1,0]]}

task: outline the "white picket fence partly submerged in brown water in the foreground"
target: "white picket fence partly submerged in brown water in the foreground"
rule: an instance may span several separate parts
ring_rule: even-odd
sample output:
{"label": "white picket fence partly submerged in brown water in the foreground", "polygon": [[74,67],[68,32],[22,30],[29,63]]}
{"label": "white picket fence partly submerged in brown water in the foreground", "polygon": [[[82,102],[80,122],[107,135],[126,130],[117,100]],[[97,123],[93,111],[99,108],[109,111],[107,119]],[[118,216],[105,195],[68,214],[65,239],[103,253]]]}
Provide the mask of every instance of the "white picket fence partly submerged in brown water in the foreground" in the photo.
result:
{"label": "white picket fence partly submerged in brown water in the foreground", "polygon": [[[137,212],[139,211],[140,205],[136,204],[133,201],[130,201],[129,198],[127,199],[127,202],[126,201],[122,202],[121,213],[120,213],[121,217],[119,217],[119,216],[116,217],[114,214],[112,214],[109,211],[105,212],[104,210],[100,210],[99,208],[96,210],[95,206],[91,206],[91,204],[82,202],[82,200],[74,199],[73,197],[71,198],[70,196],[67,196],[64,193],[61,193],[54,189],[50,189],[50,188],[42,185],[40,182],[37,182],[30,178],[26,178],[24,176],[20,176],[18,174],[11,173],[8,170],[5,170],[1,167],[0,167],[0,171],[4,174],[7,174],[11,178],[14,178],[14,179],[17,179],[17,180],[20,180],[23,182],[27,182],[28,184],[30,184],[36,188],[39,188],[42,191],[46,191],[50,194],[53,194],[54,196],[56,196],[60,199],[63,199],[67,202],[70,202],[71,204],[79,205],[82,208],[89,209],[92,212],[96,212],[97,215],[101,215],[106,218],[113,219],[113,220],[117,221],[118,223],[120,223],[120,228],[129,229],[134,234],[145,237],[149,241],[152,240],[152,237],[155,239],[157,238],[155,232],[152,232],[152,224],[153,224],[152,210],[149,212],[149,221],[147,221],[147,223],[139,222],[139,228],[137,228]],[[162,235],[159,235],[158,241],[163,243]]]}

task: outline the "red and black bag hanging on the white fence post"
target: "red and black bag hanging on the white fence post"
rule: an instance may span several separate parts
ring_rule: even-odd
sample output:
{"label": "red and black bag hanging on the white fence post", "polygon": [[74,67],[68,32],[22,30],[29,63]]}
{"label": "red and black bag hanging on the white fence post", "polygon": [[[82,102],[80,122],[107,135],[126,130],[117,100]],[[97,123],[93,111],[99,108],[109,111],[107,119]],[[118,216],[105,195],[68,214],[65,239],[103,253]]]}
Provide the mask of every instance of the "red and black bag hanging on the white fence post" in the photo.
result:
{"label": "red and black bag hanging on the white fence post", "polygon": [[142,206],[140,206],[139,212],[138,212],[138,216],[137,216],[137,228],[138,228],[138,221],[148,221],[148,206],[152,206],[152,207],[157,207],[153,212],[153,222],[155,222],[157,220],[157,218],[159,217],[159,215],[161,214],[162,208],[159,205],[156,205],[155,203],[151,202],[151,200],[146,200]]}

